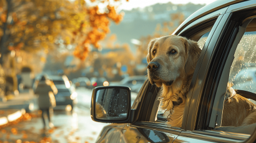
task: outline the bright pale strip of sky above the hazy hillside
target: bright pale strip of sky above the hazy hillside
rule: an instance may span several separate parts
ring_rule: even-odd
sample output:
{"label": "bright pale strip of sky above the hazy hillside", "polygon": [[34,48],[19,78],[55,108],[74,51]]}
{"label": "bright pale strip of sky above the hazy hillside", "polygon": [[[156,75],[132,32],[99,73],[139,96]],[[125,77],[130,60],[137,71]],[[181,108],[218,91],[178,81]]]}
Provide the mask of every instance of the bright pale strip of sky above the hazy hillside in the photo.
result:
{"label": "bright pale strip of sky above the hazy hillside", "polygon": [[122,2],[122,5],[119,6],[119,9],[123,10],[131,10],[133,8],[144,8],[156,3],[167,3],[172,2],[174,4],[187,4],[189,2],[192,2],[194,4],[210,4],[216,0],[129,0],[129,2]]}

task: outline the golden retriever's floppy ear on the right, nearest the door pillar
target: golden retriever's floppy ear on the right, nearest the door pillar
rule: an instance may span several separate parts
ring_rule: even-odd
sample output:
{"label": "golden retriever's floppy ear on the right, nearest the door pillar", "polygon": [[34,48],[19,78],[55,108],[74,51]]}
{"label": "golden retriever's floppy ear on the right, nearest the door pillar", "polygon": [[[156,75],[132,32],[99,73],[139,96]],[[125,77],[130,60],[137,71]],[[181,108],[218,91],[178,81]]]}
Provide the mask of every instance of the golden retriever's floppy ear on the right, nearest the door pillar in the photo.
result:
{"label": "golden retriever's floppy ear on the right, nearest the door pillar", "polygon": [[197,65],[197,60],[200,56],[201,49],[199,48],[199,45],[197,45],[197,42],[194,40],[188,40],[185,38],[182,38],[185,45],[185,73],[186,75],[191,75],[194,73],[195,66]]}

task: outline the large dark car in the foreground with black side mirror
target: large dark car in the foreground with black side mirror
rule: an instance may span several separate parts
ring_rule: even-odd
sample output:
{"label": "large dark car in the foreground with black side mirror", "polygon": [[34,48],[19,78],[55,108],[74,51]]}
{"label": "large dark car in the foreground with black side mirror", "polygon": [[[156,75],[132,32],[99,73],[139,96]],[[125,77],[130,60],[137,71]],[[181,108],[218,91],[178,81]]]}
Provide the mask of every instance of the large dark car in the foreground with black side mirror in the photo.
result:
{"label": "large dark car in the foreground with black side mirror", "polygon": [[[94,88],[92,120],[114,123],[102,129],[96,142],[256,142],[256,123],[222,126],[224,100],[229,98],[227,83],[234,81],[234,75],[244,66],[252,67],[246,63],[256,60],[255,17],[256,1],[219,0],[194,12],[174,31],[174,35],[197,41],[202,49],[181,127],[167,125],[158,99],[160,88],[149,80],[142,85],[132,106],[127,86]],[[249,72],[255,74],[254,70]],[[235,90],[245,98],[256,99],[255,93],[245,86]]]}

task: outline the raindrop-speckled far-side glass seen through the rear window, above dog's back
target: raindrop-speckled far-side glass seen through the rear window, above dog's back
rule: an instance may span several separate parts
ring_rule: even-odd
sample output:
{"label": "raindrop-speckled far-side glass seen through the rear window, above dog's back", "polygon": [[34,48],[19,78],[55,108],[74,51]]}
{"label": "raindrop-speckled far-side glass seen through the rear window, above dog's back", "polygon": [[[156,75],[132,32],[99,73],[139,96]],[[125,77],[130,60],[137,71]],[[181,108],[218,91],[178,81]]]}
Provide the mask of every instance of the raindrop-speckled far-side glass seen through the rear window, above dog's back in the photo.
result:
{"label": "raindrop-speckled far-side glass seen through the rear window, above dog's back", "polygon": [[229,81],[235,90],[256,93],[256,32],[245,32],[235,50]]}

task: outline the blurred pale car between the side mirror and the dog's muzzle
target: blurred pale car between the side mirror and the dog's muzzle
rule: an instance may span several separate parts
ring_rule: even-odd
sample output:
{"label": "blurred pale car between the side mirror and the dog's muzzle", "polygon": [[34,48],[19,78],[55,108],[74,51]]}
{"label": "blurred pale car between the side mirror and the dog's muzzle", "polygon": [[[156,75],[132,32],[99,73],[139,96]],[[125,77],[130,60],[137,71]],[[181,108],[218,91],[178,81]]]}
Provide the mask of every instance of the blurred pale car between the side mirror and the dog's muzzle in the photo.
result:
{"label": "blurred pale car between the side mirror and the dog's muzzle", "polygon": [[112,83],[111,85],[123,85],[129,86],[130,91],[139,93],[139,90],[143,83],[147,80],[146,76],[128,76],[121,80],[119,83]]}

